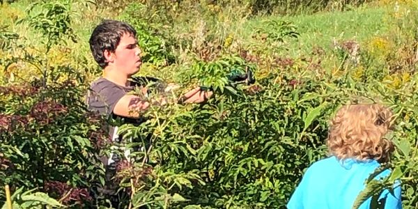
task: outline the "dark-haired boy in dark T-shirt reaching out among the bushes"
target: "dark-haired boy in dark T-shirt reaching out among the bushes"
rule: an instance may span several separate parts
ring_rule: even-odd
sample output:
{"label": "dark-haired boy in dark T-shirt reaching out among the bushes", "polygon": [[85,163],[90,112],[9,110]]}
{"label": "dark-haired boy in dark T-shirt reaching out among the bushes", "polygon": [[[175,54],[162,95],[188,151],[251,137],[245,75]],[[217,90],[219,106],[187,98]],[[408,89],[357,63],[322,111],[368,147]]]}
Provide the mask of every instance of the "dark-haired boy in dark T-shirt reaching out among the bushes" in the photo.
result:
{"label": "dark-haired boy in dark T-shirt reaching out among the bushes", "polygon": [[[95,27],[89,40],[90,49],[95,61],[103,68],[104,75],[91,84],[86,97],[88,109],[132,124],[141,123],[141,113],[153,105],[136,95],[127,94],[136,86],[146,92],[144,86],[132,80],[132,75],[141,66],[141,49],[138,47],[136,35],[132,26],[116,20],[105,20]],[[211,91],[202,91],[197,87],[183,95],[182,102],[204,102],[211,95]],[[166,101],[162,98],[155,103],[161,105]],[[112,141],[125,141],[118,136],[117,126],[110,127],[109,134]],[[107,186],[111,185],[116,164],[120,160],[121,157],[116,154],[102,157],[107,170]]]}

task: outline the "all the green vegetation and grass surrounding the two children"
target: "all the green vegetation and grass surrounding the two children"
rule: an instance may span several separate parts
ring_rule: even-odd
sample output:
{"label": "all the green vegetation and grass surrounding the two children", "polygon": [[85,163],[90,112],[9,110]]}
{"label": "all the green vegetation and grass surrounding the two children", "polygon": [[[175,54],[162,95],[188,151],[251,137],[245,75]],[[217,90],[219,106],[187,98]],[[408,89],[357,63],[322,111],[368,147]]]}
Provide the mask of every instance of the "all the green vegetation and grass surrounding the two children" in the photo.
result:
{"label": "all the green vegetation and grass surrounding the two children", "polygon": [[[132,194],[121,208],[285,208],[304,169],[327,155],[327,121],[358,102],[387,104],[397,122],[392,175],[364,195],[400,178],[404,208],[418,207],[416,1],[21,0],[0,11],[0,185],[14,208],[109,208],[95,194],[98,156],[111,150],[106,118],[84,106],[101,75],[88,38],[103,19],[137,29],[139,75],[180,84],[168,98],[216,91],[121,128],[153,144],[118,166]],[[256,84],[225,79],[247,69]]]}

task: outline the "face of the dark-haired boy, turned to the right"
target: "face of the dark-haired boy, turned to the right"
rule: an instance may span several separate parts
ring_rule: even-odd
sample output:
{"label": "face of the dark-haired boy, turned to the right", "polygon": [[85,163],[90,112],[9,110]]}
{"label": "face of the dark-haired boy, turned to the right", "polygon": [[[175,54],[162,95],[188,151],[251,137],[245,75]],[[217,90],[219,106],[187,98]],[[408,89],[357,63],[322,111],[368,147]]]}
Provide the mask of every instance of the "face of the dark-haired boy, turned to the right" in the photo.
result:
{"label": "face of the dark-haired boy, turned to the right", "polygon": [[138,47],[137,39],[130,34],[123,34],[114,52],[116,69],[126,75],[134,75],[139,71],[141,64],[141,49]]}

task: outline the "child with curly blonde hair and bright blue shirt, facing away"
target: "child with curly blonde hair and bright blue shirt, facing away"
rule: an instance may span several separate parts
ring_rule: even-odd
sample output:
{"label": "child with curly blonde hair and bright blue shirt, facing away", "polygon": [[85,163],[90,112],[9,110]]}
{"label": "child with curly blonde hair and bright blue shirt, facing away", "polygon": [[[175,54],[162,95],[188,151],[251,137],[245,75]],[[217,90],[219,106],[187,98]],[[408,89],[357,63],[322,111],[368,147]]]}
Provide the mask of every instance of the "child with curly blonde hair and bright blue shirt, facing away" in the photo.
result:
{"label": "child with curly blonde hair and bright blue shirt, facing away", "polygon": [[[341,107],[331,120],[327,138],[330,157],[315,162],[304,173],[288,208],[352,208],[356,197],[380,163],[394,151],[385,135],[392,127],[392,111],[380,104],[352,104]],[[388,176],[385,170],[376,179]],[[400,185],[394,195],[387,189],[380,199],[385,208],[402,208]],[[369,208],[371,198],[359,208]]]}

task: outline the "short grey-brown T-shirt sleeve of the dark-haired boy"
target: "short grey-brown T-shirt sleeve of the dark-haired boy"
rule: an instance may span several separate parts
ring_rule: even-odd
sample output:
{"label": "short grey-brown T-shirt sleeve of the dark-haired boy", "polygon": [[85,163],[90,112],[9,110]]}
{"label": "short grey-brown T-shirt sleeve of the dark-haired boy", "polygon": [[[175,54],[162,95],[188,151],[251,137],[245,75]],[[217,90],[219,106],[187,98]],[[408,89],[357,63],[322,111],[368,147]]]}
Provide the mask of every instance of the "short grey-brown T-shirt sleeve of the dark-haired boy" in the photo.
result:
{"label": "short grey-brown T-shirt sleeve of the dark-haired boy", "polygon": [[91,85],[87,93],[87,105],[91,111],[110,116],[116,103],[125,95],[125,91],[107,80],[98,80]]}

